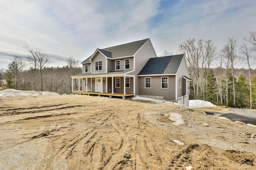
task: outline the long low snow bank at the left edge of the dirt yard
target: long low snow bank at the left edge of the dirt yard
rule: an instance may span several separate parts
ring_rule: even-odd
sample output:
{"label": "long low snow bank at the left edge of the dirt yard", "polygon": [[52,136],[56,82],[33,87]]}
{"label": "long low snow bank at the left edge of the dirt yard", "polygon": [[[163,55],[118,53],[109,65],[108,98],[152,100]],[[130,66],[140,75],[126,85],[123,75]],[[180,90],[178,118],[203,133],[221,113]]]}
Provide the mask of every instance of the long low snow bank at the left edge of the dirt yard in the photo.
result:
{"label": "long low snow bank at the left edge of the dirt yard", "polygon": [[0,91],[0,97],[40,97],[40,96],[58,96],[54,92],[36,92],[26,90],[7,89]]}

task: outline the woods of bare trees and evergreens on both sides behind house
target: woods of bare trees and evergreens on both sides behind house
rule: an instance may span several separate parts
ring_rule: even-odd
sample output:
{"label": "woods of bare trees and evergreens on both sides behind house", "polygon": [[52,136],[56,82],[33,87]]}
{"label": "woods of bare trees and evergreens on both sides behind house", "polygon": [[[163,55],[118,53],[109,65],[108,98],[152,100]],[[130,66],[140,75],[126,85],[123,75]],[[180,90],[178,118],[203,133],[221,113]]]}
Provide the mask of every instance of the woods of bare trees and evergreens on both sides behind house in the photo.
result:
{"label": "woods of bare trees and evergreens on both sides behind house", "polygon": [[[23,48],[28,51],[28,57],[13,56],[7,69],[0,70],[0,87],[72,93],[70,76],[82,73],[78,60],[73,56],[65,57],[66,66],[47,67],[48,55],[28,45]],[[222,49],[217,50],[212,40],[187,39],[175,53],[168,50],[156,53],[158,57],[185,54],[192,79],[190,100],[256,109],[256,31],[249,31],[242,45],[238,45],[234,37],[228,37]],[[24,69],[28,65],[30,68]],[[75,81],[74,88],[77,86]]]}

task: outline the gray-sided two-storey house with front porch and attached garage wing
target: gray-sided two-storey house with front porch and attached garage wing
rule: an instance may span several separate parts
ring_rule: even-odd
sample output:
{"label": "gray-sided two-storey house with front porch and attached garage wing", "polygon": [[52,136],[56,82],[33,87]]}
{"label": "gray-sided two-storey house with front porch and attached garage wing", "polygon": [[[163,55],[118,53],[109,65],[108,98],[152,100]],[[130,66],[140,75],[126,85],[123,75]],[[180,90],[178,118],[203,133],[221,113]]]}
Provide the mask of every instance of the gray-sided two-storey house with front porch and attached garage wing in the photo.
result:
{"label": "gray-sided two-storey house with front porch and attached garage wing", "polygon": [[96,49],[81,64],[82,74],[71,76],[73,93],[144,96],[188,106],[190,78],[184,55],[157,57],[150,39]]}

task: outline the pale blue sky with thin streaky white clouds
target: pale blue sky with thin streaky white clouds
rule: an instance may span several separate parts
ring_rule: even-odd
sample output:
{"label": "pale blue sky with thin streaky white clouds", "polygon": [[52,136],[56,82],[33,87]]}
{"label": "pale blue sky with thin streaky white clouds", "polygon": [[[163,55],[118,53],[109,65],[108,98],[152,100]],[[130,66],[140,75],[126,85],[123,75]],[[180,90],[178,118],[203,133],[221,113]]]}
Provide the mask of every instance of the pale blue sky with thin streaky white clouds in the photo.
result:
{"label": "pale blue sky with thin streaky white clouds", "polygon": [[255,0],[0,0],[0,69],[26,59],[24,45],[46,53],[50,67],[147,38],[158,54],[190,38],[218,50],[228,37],[242,45],[256,31],[255,9]]}

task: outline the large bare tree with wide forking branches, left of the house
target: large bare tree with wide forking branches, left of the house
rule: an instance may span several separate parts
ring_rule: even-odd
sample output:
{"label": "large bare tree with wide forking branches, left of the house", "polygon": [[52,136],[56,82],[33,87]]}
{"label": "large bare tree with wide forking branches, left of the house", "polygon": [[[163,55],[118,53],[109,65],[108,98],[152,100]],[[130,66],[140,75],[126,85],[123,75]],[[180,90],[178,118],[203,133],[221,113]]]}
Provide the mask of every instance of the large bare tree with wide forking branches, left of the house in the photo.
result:
{"label": "large bare tree with wide forking branches, left of the house", "polygon": [[31,63],[34,66],[34,69],[36,70],[37,66],[39,67],[40,71],[40,78],[41,78],[41,91],[43,91],[43,72],[42,68],[48,63],[49,57],[45,53],[41,53],[40,50],[36,49],[30,49],[28,45],[23,46],[24,49],[29,51],[31,55],[28,55],[27,60],[29,63]]}

